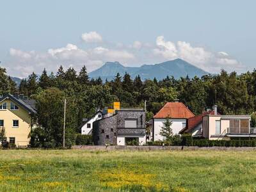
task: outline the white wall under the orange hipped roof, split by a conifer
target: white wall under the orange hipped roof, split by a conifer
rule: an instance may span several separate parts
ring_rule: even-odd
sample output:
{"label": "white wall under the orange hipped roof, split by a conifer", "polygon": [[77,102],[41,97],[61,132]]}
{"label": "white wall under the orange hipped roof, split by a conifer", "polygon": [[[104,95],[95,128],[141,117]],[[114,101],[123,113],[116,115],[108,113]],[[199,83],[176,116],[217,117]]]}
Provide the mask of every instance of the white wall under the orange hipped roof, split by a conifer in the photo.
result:
{"label": "white wall under the orange hipped roof, split by a conifer", "polygon": [[[164,122],[166,121],[165,118],[154,118],[154,141],[161,140],[163,141],[164,138],[159,134],[162,127],[164,127]],[[172,122],[172,132],[173,135],[179,134],[179,132],[183,129],[182,123],[186,123],[186,119],[175,119],[170,118],[170,121]]]}

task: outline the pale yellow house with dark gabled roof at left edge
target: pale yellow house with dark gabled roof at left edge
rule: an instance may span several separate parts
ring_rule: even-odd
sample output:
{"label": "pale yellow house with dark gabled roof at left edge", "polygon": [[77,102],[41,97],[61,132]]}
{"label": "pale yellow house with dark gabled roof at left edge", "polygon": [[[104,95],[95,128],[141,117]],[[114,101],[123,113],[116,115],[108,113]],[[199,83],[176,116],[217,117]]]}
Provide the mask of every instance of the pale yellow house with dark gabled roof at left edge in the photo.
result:
{"label": "pale yellow house with dark gabled roof at left edge", "polygon": [[36,113],[35,102],[26,97],[7,94],[0,98],[0,127],[9,143],[17,147],[29,144],[31,115]]}

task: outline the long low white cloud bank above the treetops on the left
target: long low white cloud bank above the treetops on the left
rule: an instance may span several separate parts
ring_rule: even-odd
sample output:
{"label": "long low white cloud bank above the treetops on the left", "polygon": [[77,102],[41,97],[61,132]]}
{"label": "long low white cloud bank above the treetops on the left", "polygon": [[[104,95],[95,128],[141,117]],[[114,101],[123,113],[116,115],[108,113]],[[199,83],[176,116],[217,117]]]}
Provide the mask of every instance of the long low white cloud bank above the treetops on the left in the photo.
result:
{"label": "long low white cloud bank above the treetops on the left", "polygon": [[[86,65],[88,72],[99,68],[106,61],[127,63],[134,60],[134,55],[127,51],[95,47],[94,49],[79,49],[77,45],[67,44],[65,47],[48,49],[47,52],[24,52],[10,49],[10,61],[6,67],[12,76],[28,77],[32,72],[41,74],[44,68],[56,72],[60,65],[64,68],[74,67],[80,70]],[[17,63],[19,63],[17,67]]]}

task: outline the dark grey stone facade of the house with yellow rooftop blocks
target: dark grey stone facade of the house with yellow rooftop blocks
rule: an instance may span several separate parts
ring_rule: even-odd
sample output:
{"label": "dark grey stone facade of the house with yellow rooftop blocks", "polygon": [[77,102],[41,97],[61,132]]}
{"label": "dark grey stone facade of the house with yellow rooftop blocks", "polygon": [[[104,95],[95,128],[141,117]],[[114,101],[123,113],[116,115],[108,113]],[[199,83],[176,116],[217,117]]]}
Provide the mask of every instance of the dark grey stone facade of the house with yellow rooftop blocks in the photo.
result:
{"label": "dark grey stone facade of the house with yellow rooftop blocks", "polygon": [[[125,128],[125,119],[137,119],[137,128]],[[101,131],[104,129],[104,133]],[[93,143],[95,145],[116,145],[118,134],[146,134],[145,111],[117,111],[115,115],[93,123]]]}

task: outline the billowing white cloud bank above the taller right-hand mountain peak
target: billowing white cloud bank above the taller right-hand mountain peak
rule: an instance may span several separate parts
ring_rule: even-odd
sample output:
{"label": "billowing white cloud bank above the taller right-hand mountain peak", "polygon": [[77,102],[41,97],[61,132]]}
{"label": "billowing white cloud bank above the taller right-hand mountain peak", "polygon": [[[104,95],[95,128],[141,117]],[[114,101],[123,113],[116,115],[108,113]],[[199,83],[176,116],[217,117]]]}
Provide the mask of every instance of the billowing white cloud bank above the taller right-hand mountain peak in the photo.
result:
{"label": "billowing white cloud bank above the taller right-hand mountain peak", "polygon": [[156,48],[153,52],[164,60],[181,58],[207,72],[220,72],[221,68],[225,68],[225,70],[240,70],[242,67],[241,63],[232,59],[227,52],[211,52],[204,47],[193,47],[188,42],[182,41],[178,41],[175,44],[165,41],[164,36],[157,36]]}

